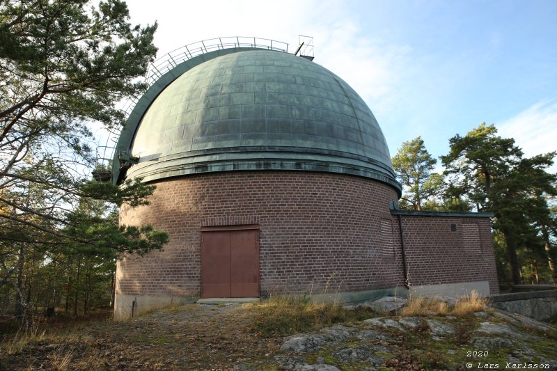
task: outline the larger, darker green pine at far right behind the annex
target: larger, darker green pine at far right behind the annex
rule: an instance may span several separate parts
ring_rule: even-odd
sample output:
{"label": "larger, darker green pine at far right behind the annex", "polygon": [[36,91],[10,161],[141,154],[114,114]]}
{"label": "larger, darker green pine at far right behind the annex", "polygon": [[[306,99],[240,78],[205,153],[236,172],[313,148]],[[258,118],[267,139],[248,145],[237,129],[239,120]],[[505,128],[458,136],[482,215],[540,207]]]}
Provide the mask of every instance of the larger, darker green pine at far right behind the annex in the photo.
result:
{"label": "larger, darker green pine at far right behind the annex", "polygon": [[557,177],[546,170],[556,153],[525,158],[513,139],[496,133],[494,125],[482,124],[466,136],[454,136],[441,161],[450,184],[448,198],[495,214],[493,228],[504,239],[512,280],[520,283],[519,255],[531,257],[536,251],[547,260],[543,246],[549,237],[542,229],[552,223],[547,200],[557,194]]}

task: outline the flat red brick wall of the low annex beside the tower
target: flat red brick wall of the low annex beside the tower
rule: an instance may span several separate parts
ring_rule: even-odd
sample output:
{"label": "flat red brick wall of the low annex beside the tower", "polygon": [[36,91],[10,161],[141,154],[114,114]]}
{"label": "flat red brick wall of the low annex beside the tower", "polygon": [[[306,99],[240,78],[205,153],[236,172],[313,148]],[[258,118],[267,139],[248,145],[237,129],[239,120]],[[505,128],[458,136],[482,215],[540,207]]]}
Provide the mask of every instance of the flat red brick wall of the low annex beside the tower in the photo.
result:
{"label": "flat red brick wall of the low annex beside the tower", "polygon": [[[398,221],[395,229],[400,248]],[[488,281],[499,292],[489,219],[402,216],[402,229],[410,285]]]}

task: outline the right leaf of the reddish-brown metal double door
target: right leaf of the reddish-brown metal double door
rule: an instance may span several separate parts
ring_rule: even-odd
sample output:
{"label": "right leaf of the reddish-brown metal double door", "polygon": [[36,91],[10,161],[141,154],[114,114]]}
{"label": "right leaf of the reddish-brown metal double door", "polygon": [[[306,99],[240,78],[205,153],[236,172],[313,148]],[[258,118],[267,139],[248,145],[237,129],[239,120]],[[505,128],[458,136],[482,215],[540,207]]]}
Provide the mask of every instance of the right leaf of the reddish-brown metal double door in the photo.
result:
{"label": "right leaf of the reddish-brown metal double door", "polygon": [[230,231],[230,297],[259,297],[258,230]]}

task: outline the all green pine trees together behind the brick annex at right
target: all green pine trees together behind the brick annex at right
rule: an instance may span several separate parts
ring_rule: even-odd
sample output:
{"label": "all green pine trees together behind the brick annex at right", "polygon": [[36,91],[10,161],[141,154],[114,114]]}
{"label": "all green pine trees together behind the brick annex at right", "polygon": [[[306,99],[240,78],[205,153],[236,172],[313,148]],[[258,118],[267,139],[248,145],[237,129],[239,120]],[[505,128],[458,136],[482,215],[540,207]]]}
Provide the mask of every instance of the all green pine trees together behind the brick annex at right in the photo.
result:
{"label": "all green pine trees together behind the brick annex at right", "polygon": [[401,207],[492,212],[501,283],[557,281],[557,177],[547,172],[556,152],[524,157],[514,139],[485,123],[449,144],[441,156],[444,179],[432,173],[436,160],[419,136],[402,144],[392,160]]}

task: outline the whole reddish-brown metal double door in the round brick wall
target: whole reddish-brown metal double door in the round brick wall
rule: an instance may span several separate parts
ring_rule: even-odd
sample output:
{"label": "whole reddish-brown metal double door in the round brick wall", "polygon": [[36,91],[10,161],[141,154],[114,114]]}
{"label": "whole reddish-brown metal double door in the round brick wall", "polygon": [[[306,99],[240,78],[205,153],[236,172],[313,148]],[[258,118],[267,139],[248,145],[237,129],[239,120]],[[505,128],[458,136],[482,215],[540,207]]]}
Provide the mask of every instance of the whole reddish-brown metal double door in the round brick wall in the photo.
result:
{"label": "whole reddish-brown metal double door in the round brick wall", "polygon": [[258,230],[227,229],[202,230],[201,297],[259,297]]}

